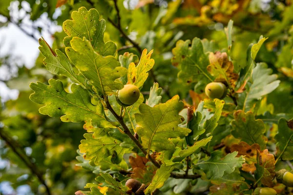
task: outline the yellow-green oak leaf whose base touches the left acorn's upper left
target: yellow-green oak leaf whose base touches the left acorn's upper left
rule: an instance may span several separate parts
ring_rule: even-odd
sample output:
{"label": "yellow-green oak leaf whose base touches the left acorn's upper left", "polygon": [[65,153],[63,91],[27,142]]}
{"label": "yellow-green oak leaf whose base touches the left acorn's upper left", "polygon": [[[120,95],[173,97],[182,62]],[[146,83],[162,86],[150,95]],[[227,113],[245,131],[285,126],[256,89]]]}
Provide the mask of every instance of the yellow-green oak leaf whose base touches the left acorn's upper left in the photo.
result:
{"label": "yellow-green oak leaf whose base touches the left acorn's upper left", "polygon": [[123,88],[124,85],[116,79],[124,76],[127,69],[121,67],[113,56],[100,56],[86,39],[74,37],[70,43],[71,47],[65,48],[68,58],[91,82],[99,95],[114,94],[113,90]]}

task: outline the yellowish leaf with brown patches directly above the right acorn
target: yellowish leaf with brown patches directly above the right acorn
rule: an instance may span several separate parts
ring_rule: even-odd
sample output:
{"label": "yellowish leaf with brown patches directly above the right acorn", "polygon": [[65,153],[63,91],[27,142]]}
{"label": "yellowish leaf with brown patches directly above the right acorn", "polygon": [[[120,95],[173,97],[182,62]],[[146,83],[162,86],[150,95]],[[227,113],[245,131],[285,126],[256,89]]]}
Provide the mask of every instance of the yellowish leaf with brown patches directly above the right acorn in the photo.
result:
{"label": "yellowish leaf with brown patches directly above the right acorn", "polygon": [[214,76],[216,80],[225,80],[229,86],[235,87],[238,79],[238,74],[234,73],[234,66],[228,59],[226,52],[215,52],[209,54],[209,66],[207,67],[210,75]]}

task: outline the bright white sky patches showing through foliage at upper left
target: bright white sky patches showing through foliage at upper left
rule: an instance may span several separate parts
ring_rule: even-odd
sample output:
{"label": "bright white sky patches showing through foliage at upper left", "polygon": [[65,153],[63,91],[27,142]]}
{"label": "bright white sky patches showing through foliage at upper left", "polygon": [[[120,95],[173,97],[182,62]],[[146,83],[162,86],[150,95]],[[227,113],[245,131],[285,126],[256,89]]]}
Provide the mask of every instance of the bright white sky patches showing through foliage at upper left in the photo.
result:
{"label": "bright white sky patches showing through foliage at upper left", "polygon": [[[26,1],[22,1],[21,6],[23,9],[19,10],[19,2],[14,1],[10,4],[10,15],[12,18],[24,18],[22,20],[22,28],[28,33],[33,34],[38,39],[43,37],[49,45],[52,45],[53,39],[51,34],[56,31],[61,31],[62,27],[57,26],[52,21],[48,20],[46,13],[42,14],[40,19],[35,21],[35,24],[43,25],[44,30],[42,33],[32,31],[32,21],[29,20],[29,16],[26,16],[24,10],[29,11],[31,8]],[[53,17],[58,17],[61,14],[60,9],[56,9]],[[0,22],[6,22],[4,17],[0,17]],[[49,29],[48,29],[49,26]],[[49,32],[50,31],[50,32]],[[36,39],[26,35],[21,29],[13,23],[8,23],[6,27],[0,28],[0,57],[10,54],[17,58],[17,64],[19,66],[25,65],[27,68],[32,68],[39,56],[39,43]],[[7,77],[7,67],[0,66],[0,79]],[[0,97],[1,102],[5,102],[9,99],[16,99],[18,97],[18,90],[9,89],[6,84],[0,81]]]}

